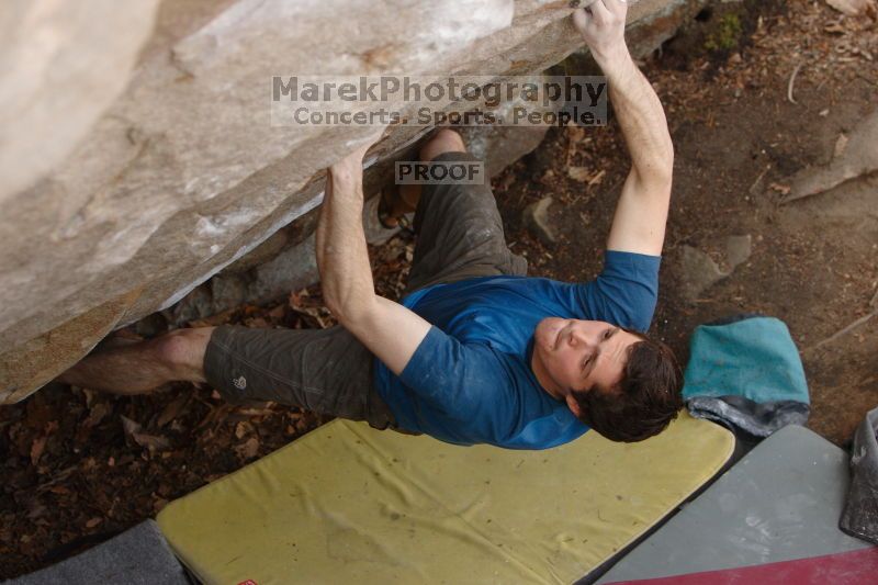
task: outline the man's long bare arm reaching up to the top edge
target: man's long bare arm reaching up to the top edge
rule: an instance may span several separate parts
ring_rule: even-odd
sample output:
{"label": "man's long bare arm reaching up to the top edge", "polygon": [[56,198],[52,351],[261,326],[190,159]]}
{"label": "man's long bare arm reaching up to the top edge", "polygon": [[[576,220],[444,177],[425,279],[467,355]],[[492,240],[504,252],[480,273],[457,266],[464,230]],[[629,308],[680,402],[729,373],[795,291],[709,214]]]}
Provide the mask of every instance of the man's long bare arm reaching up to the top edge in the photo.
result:
{"label": "man's long bare arm reaching up to the top edge", "polygon": [[574,23],[607,76],[612,108],[632,161],[607,248],[661,256],[671,204],[674,146],[662,103],[624,43],[627,11],[621,0],[597,0],[587,11],[577,10]]}

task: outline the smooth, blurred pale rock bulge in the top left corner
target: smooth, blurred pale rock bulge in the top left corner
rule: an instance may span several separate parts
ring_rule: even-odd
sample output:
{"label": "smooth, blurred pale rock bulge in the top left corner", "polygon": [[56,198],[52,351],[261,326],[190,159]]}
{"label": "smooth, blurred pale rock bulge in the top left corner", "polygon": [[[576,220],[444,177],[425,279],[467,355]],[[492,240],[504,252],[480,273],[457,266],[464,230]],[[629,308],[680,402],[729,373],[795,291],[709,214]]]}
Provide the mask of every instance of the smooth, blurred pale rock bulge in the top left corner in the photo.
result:
{"label": "smooth, blurred pale rock bulge in the top left corner", "polygon": [[4,0],[0,204],[60,164],[119,98],[157,9],[158,0]]}

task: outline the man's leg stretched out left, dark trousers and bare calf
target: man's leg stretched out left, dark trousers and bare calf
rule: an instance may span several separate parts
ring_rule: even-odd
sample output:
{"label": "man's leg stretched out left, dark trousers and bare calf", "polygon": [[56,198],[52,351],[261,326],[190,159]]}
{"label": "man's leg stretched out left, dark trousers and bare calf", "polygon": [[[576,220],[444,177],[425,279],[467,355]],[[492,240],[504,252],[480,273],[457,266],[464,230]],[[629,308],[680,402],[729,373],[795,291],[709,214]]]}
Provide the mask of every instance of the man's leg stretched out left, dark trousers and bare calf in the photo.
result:
{"label": "man's leg stretched out left, dark trousers and bare calf", "polygon": [[99,350],[58,381],[116,394],[206,382],[232,403],[272,401],[384,429],[394,419],[372,383],[373,360],[344,327],[222,326]]}

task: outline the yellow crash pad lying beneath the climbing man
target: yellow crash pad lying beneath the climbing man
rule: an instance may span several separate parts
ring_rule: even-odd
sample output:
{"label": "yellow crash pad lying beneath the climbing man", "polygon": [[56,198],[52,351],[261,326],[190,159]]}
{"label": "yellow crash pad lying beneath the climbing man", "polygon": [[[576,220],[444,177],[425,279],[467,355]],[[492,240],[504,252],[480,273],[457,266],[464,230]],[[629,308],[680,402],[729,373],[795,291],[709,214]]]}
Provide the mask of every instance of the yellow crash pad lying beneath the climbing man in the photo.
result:
{"label": "yellow crash pad lying beneath the climbing man", "polygon": [[172,502],[158,524],[205,583],[571,583],[729,460],[682,416],[642,443],[455,447],[335,420]]}

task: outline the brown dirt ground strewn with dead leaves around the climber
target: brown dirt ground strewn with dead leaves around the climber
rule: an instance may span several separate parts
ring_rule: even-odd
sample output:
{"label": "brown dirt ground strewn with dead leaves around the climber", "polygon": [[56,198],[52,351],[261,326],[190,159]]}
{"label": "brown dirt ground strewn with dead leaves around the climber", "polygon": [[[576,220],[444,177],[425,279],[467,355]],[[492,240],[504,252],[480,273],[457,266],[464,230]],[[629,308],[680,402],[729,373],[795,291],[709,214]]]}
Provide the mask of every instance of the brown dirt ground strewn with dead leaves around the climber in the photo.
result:
{"label": "brown dirt ground strewn with dead leaves around the climber", "polygon": [[[784,198],[797,171],[829,162],[840,135],[851,136],[875,113],[878,35],[868,20],[842,19],[821,2],[764,5],[731,26],[733,38],[716,34],[728,33],[732,21],[701,14],[643,64],[676,147],[653,334],[685,360],[700,323],[741,312],[784,319],[808,374],[809,426],[844,445],[878,405],[878,316],[865,319],[878,310],[878,177],[790,203]],[[507,239],[527,256],[531,274],[597,274],[627,169],[615,124],[567,127],[552,130],[537,151],[495,181]],[[549,195],[556,201],[560,241],[545,246],[522,227],[521,213]],[[686,299],[683,247],[722,266],[724,239],[741,235],[752,238],[748,259],[697,299]],[[382,294],[398,296],[413,245],[403,236],[372,250]],[[301,328],[325,327],[331,317],[312,288],[209,322]],[[233,407],[211,389],[188,384],[134,397],[55,385],[3,407],[0,578],[46,566],[154,517],[169,500],[322,421],[274,404]]]}

